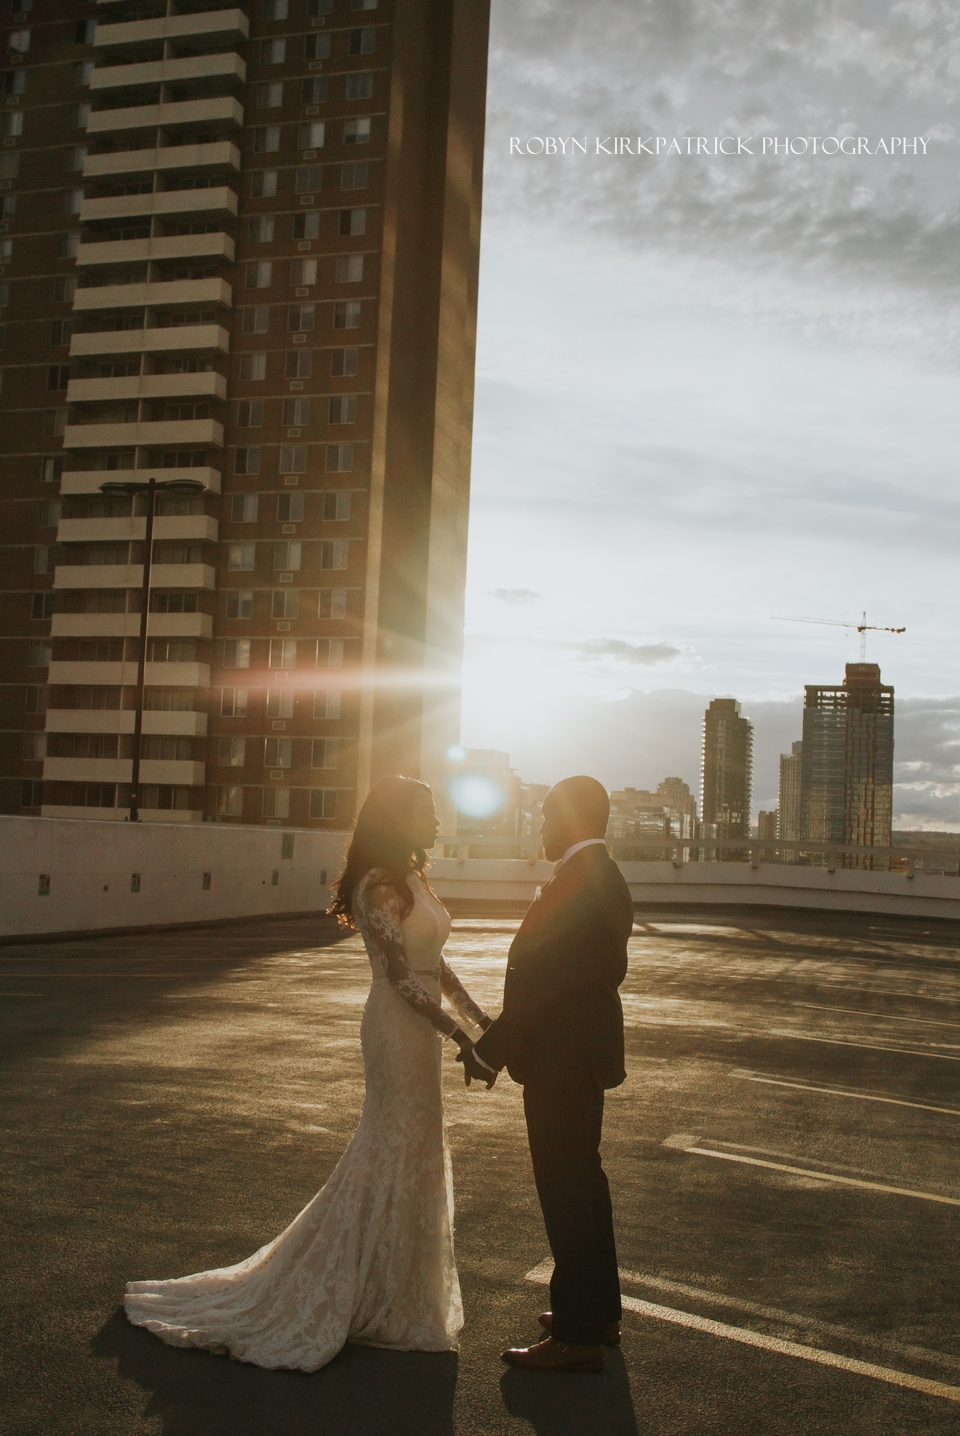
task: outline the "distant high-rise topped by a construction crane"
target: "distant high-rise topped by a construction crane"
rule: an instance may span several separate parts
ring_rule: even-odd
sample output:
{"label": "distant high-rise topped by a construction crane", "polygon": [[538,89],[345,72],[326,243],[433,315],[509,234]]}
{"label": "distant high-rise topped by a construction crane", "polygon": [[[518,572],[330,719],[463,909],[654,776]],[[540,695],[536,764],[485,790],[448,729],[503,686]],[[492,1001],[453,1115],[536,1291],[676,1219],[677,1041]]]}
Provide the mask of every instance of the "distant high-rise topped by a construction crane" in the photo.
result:
{"label": "distant high-rise topped by a construction crane", "polygon": [[[809,684],[804,702],[801,837],[888,847],[893,821],[894,691],[877,663],[847,663],[838,686]],[[844,867],[887,867],[848,854]]]}

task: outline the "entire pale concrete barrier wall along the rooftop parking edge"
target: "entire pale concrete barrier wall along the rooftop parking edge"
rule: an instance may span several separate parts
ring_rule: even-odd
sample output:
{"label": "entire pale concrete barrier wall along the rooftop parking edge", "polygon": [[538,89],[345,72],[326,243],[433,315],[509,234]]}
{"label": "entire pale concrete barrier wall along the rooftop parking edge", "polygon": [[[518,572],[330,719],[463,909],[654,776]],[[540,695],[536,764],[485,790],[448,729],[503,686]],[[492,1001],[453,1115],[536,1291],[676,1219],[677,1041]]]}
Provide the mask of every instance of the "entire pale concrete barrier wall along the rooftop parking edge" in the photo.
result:
{"label": "entire pale concrete barrier wall along the rooftop parking edge", "polygon": [[[227,823],[0,816],[0,941],[321,912],[346,840],[346,833]],[[657,908],[819,908],[960,920],[960,877],[779,863],[620,866],[634,902]],[[451,902],[528,903],[551,873],[545,862],[441,857],[429,879]]]}

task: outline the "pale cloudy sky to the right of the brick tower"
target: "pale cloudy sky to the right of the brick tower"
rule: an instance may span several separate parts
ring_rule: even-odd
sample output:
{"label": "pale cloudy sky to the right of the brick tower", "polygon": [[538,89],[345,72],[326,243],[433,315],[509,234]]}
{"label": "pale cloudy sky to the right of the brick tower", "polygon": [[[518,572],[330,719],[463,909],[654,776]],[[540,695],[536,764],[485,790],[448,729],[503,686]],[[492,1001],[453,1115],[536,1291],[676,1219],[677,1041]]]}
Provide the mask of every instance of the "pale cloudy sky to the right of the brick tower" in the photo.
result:
{"label": "pale cloudy sky to the right of the brick tower", "polygon": [[867,635],[894,821],[960,831],[959,182],[953,3],[494,0],[468,747],[696,791],[733,696],[772,808],[804,684],[860,658],[773,616],[865,610],[907,630]]}

